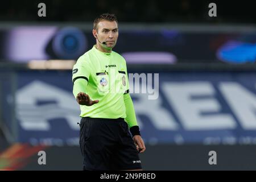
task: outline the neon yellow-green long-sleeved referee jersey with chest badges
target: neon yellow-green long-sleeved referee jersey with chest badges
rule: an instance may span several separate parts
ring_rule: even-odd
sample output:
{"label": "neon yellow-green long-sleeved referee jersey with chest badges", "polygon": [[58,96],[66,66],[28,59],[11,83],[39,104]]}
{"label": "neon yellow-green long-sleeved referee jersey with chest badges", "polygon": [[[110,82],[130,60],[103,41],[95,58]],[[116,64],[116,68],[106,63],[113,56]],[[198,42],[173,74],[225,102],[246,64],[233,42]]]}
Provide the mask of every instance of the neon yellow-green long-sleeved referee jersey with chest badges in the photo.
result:
{"label": "neon yellow-green long-sleeved referee jersey with chest badges", "polygon": [[[93,46],[79,57],[72,74],[75,97],[79,92],[85,92],[91,100],[99,100],[92,106],[80,105],[81,117],[125,118],[130,127],[137,125],[133,103],[128,93],[126,61],[121,55],[114,51],[101,52]],[[129,117],[126,114],[129,114]]]}

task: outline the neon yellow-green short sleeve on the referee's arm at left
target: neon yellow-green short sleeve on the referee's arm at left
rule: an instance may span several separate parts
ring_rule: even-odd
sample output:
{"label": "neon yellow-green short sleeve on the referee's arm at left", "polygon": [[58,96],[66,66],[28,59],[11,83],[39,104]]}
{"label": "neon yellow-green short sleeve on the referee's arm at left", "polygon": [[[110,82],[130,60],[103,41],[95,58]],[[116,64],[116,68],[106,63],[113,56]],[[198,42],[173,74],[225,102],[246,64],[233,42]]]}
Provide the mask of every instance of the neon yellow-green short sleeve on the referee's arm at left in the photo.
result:
{"label": "neon yellow-green short sleeve on the referee's arm at left", "polygon": [[84,78],[89,82],[90,64],[84,56],[79,57],[72,70],[72,81],[75,82],[78,78]]}

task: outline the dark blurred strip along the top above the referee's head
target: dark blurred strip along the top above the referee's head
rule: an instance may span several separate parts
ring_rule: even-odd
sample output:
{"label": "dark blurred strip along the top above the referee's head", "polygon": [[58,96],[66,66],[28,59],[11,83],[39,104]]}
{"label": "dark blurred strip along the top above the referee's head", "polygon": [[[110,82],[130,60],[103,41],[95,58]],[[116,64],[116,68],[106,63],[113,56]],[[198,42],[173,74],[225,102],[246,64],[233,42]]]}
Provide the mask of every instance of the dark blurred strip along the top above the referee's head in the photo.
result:
{"label": "dark blurred strip along the top above the referee's head", "polygon": [[[39,18],[38,4],[47,16]],[[217,5],[217,17],[208,16],[209,3]],[[114,13],[122,22],[146,23],[255,23],[253,1],[16,1],[0,7],[1,21],[92,22],[102,13]]]}

